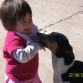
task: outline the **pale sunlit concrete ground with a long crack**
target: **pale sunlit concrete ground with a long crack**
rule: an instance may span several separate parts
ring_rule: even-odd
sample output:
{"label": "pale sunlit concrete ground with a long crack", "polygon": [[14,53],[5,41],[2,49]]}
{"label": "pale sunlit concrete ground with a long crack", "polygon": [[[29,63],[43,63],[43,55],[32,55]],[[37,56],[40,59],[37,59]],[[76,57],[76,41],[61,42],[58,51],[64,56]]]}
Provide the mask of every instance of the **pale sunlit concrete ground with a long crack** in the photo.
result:
{"label": "pale sunlit concrete ground with a long crack", "polygon": [[[3,0],[0,0],[0,4]],[[48,32],[65,34],[77,60],[83,61],[83,0],[26,0],[33,11],[34,24]],[[4,83],[5,61],[2,47],[6,31],[0,23],[0,83]],[[43,83],[53,83],[51,52],[39,51],[39,75]]]}

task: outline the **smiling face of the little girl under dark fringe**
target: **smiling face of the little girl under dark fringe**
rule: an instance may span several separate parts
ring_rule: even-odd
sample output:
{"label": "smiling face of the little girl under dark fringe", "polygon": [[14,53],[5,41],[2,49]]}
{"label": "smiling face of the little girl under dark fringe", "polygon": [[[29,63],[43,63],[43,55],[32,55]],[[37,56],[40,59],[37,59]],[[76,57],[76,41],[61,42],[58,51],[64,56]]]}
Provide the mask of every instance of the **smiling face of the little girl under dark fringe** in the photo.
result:
{"label": "smiling face of the little girl under dark fringe", "polygon": [[26,14],[26,16],[17,21],[15,26],[15,31],[23,34],[29,34],[33,25],[32,16]]}

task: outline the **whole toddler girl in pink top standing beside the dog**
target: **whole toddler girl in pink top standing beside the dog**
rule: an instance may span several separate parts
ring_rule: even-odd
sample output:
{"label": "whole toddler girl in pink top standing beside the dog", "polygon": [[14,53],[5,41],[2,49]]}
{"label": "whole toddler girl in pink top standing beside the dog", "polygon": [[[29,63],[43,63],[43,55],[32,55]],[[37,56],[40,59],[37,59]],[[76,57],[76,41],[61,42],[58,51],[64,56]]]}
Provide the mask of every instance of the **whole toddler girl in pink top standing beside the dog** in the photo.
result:
{"label": "whole toddler girl in pink top standing beside the dog", "polygon": [[7,30],[3,56],[6,60],[5,83],[41,83],[38,76],[38,31],[32,11],[24,0],[4,0],[0,19]]}

